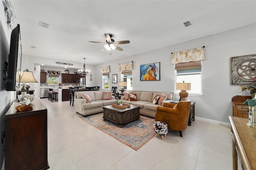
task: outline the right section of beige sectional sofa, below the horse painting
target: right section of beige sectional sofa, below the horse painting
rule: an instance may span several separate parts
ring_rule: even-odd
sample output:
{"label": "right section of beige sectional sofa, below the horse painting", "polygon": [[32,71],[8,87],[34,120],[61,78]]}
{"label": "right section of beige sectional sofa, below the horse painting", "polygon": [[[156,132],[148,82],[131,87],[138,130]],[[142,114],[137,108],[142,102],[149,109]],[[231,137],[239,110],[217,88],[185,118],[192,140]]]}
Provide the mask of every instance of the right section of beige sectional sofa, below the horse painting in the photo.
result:
{"label": "right section of beige sectional sofa, below the horse painting", "polygon": [[164,103],[170,103],[174,98],[174,93],[171,92],[150,92],[150,91],[127,91],[136,94],[137,101],[128,101],[124,100],[124,96],[121,97],[121,100],[126,104],[140,106],[140,115],[145,115],[149,117],[155,117],[156,108],[159,105],[155,105],[152,103],[153,98],[158,95],[160,96],[162,93],[167,95],[167,98],[164,102],[162,102],[161,106]]}

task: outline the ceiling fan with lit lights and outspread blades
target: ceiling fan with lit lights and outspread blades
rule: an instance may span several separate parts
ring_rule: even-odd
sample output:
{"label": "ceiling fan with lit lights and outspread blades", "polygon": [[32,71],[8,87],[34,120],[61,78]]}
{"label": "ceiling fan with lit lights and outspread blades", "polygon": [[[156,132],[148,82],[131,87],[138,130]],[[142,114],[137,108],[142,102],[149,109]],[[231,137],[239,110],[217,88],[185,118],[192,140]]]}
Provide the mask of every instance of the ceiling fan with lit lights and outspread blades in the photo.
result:
{"label": "ceiling fan with lit lights and outspread blades", "polygon": [[119,42],[115,42],[115,40],[112,39],[112,34],[104,34],[105,35],[105,38],[106,38],[106,43],[104,42],[92,42],[92,41],[89,41],[91,43],[103,43],[103,44],[106,44],[104,45],[104,47],[101,49],[102,50],[105,50],[107,49],[108,51],[110,51],[111,49],[117,49],[119,51],[123,51],[124,49],[122,49],[121,47],[118,47],[116,44],[125,44],[125,43],[130,43],[129,40],[126,40],[126,41],[119,41]]}

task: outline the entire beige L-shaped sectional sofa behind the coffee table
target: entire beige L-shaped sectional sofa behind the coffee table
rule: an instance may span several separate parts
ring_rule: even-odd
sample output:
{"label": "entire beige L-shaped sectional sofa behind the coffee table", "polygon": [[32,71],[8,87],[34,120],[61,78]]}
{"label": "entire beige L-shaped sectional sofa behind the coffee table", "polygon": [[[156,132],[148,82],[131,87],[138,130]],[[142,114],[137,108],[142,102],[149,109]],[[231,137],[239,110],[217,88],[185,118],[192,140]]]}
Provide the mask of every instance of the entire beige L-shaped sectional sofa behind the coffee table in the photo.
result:
{"label": "entire beige L-shaped sectional sofa behind the coffee table", "polygon": [[[88,94],[92,99],[92,102],[88,103],[86,99],[82,97],[82,94]],[[76,113],[87,116],[94,113],[103,112],[102,106],[112,105],[117,103],[118,100],[112,96],[111,100],[102,100],[103,91],[77,91],[75,92],[75,110]],[[150,91],[126,91],[124,93],[136,94],[136,101],[125,100],[124,96],[120,100],[126,104],[140,106],[140,115],[149,117],[155,117],[156,107],[159,105],[153,104],[152,101],[156,95],[166,95],[166,100],[162,102],[170,103],[173,100],[174,93],[170,92],[150,92]]]}

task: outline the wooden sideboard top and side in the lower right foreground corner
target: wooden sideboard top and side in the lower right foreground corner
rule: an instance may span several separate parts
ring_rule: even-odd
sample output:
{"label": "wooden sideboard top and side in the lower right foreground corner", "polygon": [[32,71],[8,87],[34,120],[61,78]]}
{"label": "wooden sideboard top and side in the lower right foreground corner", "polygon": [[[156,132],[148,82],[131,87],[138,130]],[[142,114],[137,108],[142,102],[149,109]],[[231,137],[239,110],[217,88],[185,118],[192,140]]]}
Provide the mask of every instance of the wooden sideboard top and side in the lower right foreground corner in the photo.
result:
{"label": "wooden sideboard top and side in the lower right foreground corner", "polygon": [[233,146],[233,170],[238,169],[238,158],[243,170],[256,170],[256,128],[246,125],[248,119],[229,117]]}

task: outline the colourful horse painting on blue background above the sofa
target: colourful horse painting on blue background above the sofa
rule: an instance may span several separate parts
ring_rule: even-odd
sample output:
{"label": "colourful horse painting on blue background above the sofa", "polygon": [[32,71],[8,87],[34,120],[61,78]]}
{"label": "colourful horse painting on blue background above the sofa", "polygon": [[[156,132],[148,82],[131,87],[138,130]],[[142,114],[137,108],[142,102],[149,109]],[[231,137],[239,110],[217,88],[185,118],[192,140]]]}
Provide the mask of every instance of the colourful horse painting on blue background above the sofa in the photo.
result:
{"label": "colourful horse painting on blue background above the sofa", "polygon": [[140,80],[159,80],[159,64],[140,65]]}

